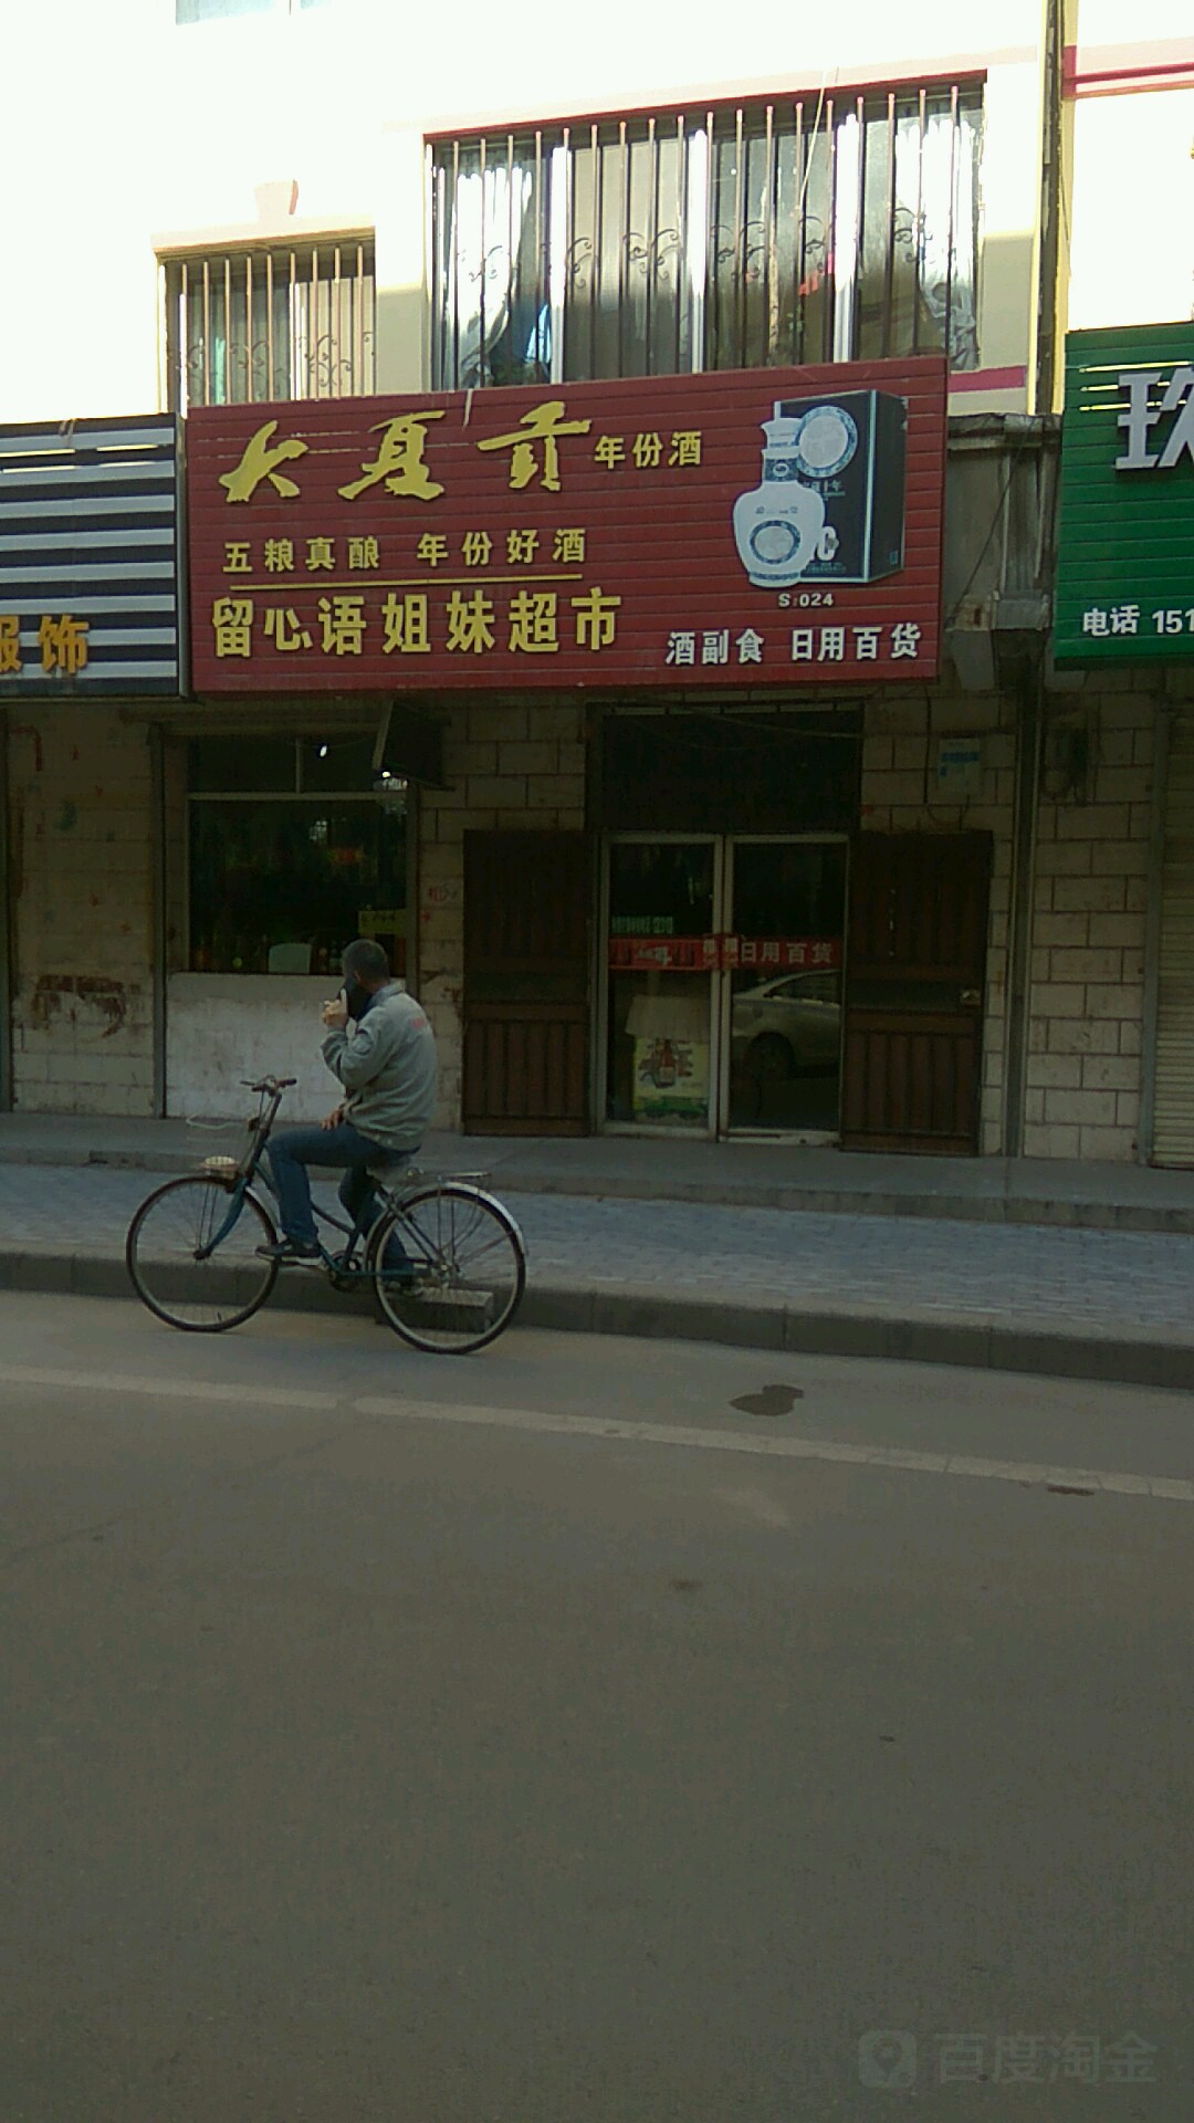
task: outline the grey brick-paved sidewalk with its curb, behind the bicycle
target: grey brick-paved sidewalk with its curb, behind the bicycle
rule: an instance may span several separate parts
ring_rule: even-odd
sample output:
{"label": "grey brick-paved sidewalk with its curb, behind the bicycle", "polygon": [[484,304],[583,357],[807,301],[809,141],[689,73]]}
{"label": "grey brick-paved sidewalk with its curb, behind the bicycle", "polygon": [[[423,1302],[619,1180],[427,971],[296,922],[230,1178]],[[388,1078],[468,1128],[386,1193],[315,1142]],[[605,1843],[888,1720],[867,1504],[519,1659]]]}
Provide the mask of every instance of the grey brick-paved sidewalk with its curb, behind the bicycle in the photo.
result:
{"label": "grey brick-paved sidewalk with its curb, behind the bicycle", "polygon": [[[6,1163],[0,1278],[123,1289],[123,1270],[96,1282],[96,1265],[117,1267],[151,1185],[144,1172]],[[527,1316],[540,1325],[1194,1386],[1190,1236],[586,1195],[508,1202],[531,1253]],[[310,1276],[280,1289],[285,1304],[327,1295]]]}

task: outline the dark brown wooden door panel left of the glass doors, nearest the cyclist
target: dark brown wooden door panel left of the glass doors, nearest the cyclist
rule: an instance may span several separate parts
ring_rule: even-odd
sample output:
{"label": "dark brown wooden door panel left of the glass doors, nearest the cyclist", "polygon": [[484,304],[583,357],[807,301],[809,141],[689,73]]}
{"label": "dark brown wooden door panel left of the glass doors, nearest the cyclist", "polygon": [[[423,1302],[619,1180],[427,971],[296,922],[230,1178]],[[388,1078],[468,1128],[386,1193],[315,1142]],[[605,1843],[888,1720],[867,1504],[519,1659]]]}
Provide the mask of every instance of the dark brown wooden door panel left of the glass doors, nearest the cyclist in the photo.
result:
{"label": "dark brown wooden door panel left of the glass doors, nearest the cyclist", "polygon": [[465,832],[465,1134],[586,1132],[591,885],[582,832]]}

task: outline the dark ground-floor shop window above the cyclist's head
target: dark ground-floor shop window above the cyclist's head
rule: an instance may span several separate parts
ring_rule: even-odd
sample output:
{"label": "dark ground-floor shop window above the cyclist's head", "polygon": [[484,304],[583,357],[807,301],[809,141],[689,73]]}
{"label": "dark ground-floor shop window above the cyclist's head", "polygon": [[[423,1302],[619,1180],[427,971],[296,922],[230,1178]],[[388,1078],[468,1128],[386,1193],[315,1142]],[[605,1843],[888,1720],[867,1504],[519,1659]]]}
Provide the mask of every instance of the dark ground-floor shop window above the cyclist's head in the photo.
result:
{"label": "dark ground-floor shop window above the cyclist's head", "polygon": [[406,805],[372,790],[372,735],[187,747],[191,972],[331,972],[353,936],[406,970]]}

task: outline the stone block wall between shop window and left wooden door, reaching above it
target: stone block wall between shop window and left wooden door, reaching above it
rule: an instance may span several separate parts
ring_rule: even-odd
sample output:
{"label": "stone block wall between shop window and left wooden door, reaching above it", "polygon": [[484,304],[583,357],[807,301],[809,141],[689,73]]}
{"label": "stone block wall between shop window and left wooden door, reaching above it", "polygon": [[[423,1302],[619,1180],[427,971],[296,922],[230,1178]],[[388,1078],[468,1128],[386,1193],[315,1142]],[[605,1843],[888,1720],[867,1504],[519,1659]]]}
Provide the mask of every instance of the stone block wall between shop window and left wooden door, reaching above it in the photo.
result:
{"label": "stone block wall between shop window and left wooden door, reaching above it", "polygon": [[463,1076],[463,836],[584,826],[584,705],[495,696],[457,703],[446,790],[419,798],[416,991],[440,1049],[438,1127],[459,1127]]}

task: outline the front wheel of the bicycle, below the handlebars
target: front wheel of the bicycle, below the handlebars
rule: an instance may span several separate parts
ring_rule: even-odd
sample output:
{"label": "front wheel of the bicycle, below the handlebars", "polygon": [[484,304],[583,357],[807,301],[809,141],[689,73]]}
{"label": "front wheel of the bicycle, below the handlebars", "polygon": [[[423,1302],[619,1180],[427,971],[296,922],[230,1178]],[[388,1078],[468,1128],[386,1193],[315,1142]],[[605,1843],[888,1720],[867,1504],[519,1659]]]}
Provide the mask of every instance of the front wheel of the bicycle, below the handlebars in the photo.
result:
{"label": "front wheel of the bicycle, below the handlebars", "polygon": [[125,1265],[142,1306],[168,1327],[225,1333],[253,1318],[274,1289],[278,1263],[257,1253],[274,1238],[257,1195],[242,1195],[238,1206],[232,1187],[195,1172],[166,1180],[140,1204]]}

